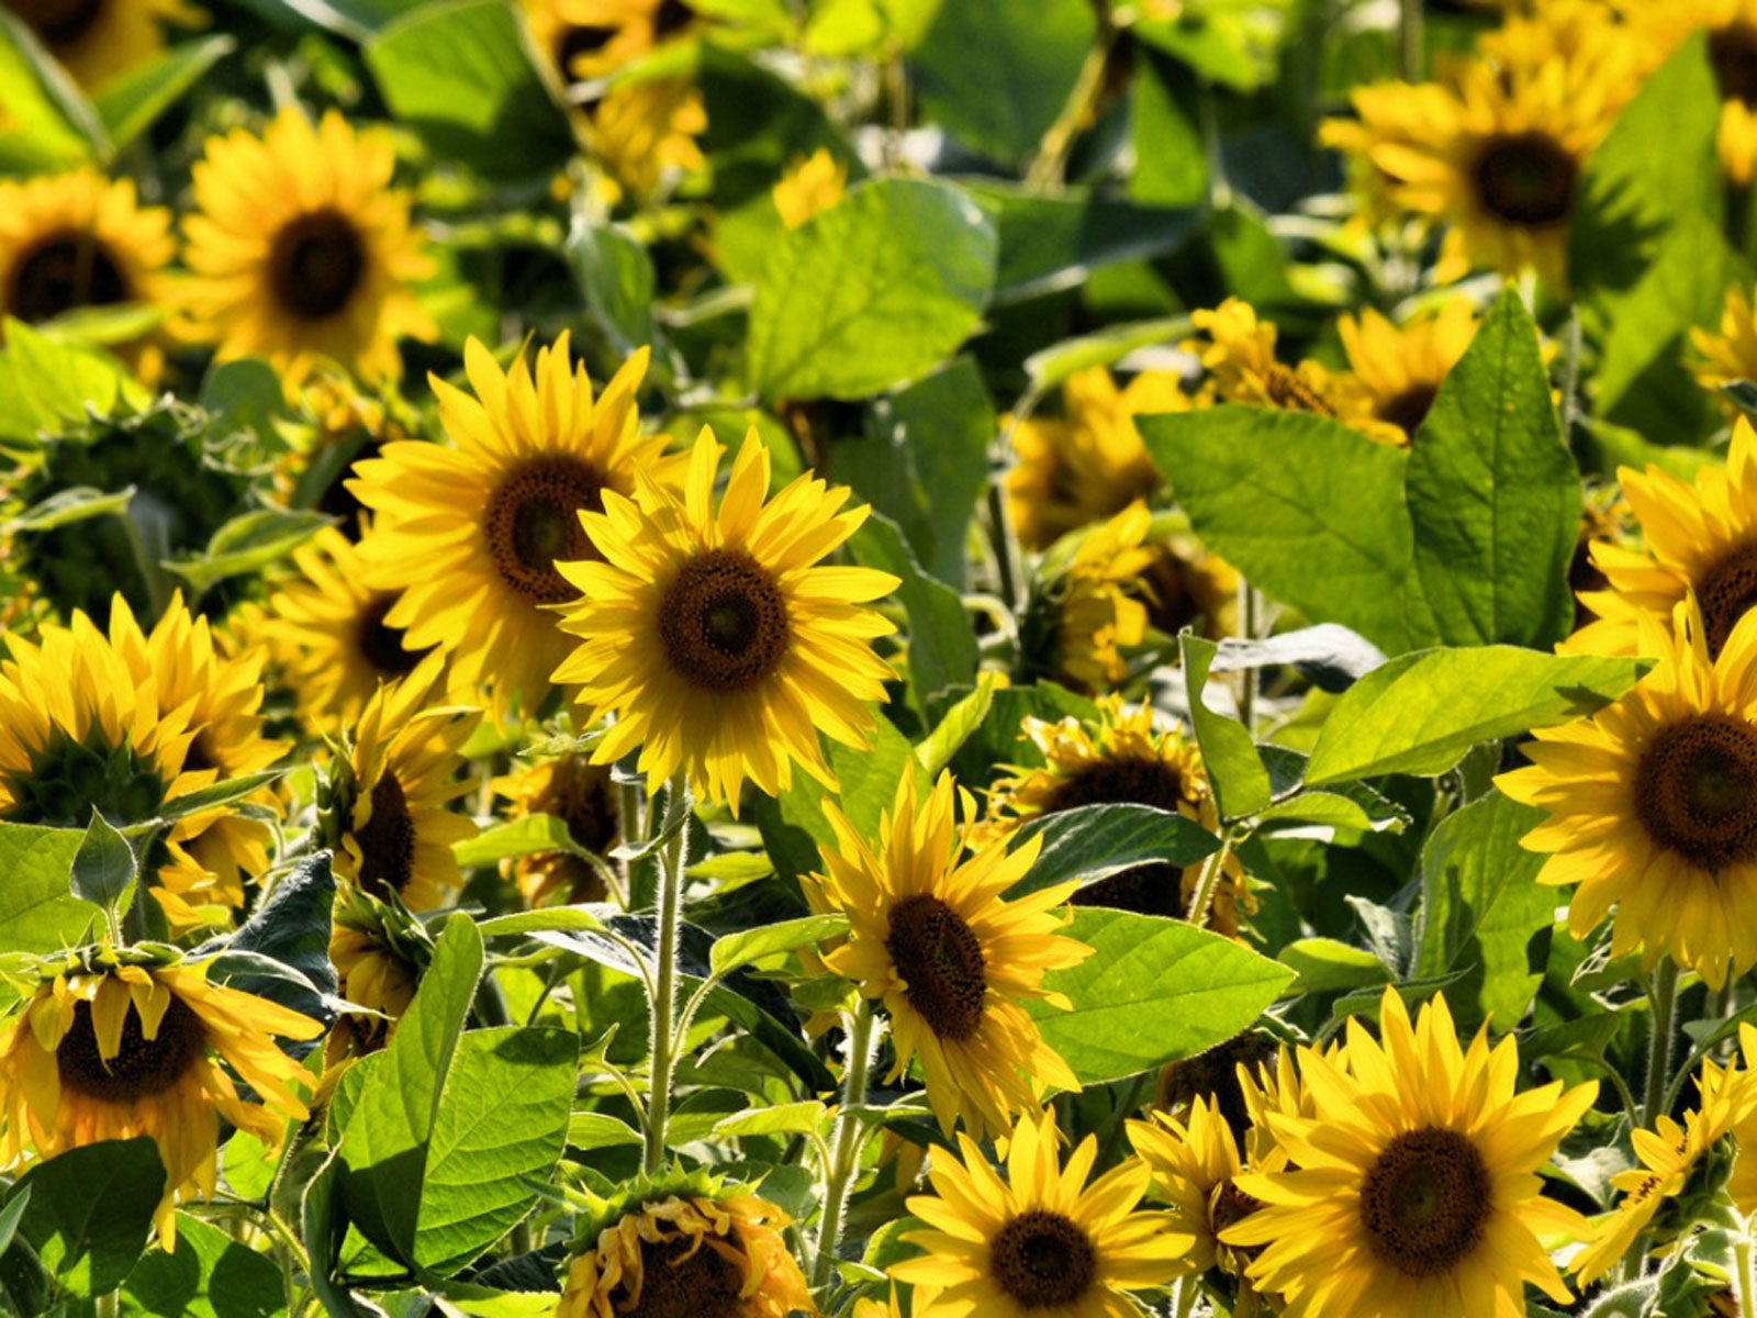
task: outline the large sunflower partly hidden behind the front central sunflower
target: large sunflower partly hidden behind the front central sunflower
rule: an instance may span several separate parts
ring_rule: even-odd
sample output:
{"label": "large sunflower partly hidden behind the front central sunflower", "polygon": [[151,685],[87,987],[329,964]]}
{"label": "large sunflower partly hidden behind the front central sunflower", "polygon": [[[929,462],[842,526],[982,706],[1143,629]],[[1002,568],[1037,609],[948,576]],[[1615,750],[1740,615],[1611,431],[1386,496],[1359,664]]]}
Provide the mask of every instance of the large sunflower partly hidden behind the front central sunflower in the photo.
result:
{"label": "large sunflower partly hidden behind the front central sunflower", "polygon": [[599,397],[566,332],[534,373],[524,357],[503,371],[474,337],[464,369],[474,397],[432,381],[455,448],[408,439],[355,464],[348,489],[376,513],[360,555],[367,585],[402,592],[385,622],[404,645],[445,650],[497,715],[515,699],[536,713],[571,648],[552,608],[578,594],[562,562],[601,554],[578,515],[629,494],[666,438],[640,432],[645,348]]}

